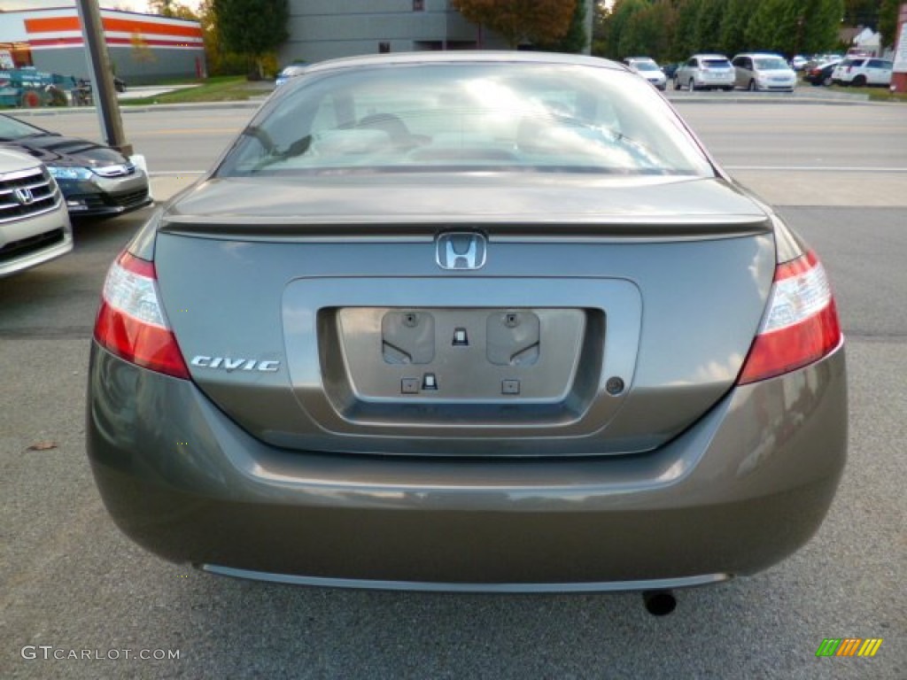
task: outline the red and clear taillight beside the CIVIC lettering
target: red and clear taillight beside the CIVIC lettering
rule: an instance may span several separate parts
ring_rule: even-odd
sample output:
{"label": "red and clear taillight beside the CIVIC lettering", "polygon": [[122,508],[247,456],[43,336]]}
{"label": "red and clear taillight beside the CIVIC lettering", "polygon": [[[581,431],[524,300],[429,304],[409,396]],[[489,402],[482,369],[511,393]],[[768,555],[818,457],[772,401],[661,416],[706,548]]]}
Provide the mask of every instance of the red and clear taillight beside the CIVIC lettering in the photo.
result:
{"label": "red and clear taillight beside the CIVIC lettering", "polygon": [[94,339],[132,364],[176,378],[190,377],[161,307],[154,263],[128,252],[107,272]]}

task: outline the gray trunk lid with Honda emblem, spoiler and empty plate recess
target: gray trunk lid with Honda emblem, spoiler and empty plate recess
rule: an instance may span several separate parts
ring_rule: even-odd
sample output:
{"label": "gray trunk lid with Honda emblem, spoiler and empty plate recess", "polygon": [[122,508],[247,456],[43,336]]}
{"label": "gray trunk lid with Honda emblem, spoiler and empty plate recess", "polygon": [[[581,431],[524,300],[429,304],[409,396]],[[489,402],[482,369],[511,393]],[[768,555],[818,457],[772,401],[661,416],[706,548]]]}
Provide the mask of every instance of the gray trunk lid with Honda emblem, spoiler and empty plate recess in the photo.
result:
{"label": "gray trunk lid with Honda emblem, spoiler and empty plate recess", "polygon": [[775,265],[756,202],[675,178],[210,181],[155,259],[192,379],[253,436],[489,456],[682,432],[733,385]]}

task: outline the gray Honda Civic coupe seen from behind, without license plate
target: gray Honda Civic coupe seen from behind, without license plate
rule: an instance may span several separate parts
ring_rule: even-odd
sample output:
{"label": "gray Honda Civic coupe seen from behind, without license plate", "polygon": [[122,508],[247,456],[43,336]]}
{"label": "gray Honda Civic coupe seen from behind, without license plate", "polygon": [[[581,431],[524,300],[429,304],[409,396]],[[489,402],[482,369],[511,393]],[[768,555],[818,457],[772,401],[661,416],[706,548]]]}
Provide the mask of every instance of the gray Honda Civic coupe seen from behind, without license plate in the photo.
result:
{"label": "gray Honda Civic coupe seen from behind, without license plate", "polygon": [[116,524],[208,572],[668,593],[819,528],[844,338],[814,251],[623,66],[357,57],[117,257],[87,423]]}

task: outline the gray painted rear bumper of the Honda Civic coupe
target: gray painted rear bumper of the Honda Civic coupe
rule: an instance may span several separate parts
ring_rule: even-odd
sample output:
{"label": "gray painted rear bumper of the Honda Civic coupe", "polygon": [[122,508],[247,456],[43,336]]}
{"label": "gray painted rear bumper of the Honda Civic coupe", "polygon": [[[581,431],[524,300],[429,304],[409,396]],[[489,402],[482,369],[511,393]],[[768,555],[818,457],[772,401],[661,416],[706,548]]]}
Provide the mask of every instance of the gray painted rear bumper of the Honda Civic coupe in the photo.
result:
{"label": "gray painted rear bumper of the Honda Civic coupe", "polygon": [[113,519],[237,576],[562,590],[750,574],[818,529],[846,441],[843,347],[735,388],[657,452],[558,461],[281,451],[194,384],[92,351],[88,452]]}

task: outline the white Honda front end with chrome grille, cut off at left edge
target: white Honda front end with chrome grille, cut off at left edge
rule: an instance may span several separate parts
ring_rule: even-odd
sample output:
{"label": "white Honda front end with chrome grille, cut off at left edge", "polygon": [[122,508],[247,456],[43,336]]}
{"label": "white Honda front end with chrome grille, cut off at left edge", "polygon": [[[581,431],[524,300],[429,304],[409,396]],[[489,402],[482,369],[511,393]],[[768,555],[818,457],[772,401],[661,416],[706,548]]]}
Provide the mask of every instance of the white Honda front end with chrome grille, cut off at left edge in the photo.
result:
{"label": "white Honda front end with chrome grille, cut off at left edge", "polygon": [[0,277],[72,249],[73,229],[56,180],[40,160],[0,149]]}

